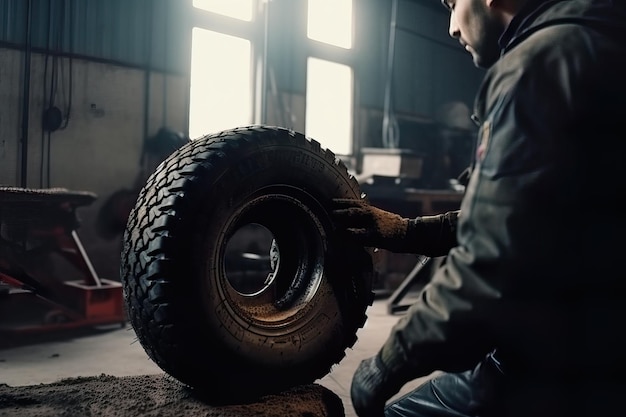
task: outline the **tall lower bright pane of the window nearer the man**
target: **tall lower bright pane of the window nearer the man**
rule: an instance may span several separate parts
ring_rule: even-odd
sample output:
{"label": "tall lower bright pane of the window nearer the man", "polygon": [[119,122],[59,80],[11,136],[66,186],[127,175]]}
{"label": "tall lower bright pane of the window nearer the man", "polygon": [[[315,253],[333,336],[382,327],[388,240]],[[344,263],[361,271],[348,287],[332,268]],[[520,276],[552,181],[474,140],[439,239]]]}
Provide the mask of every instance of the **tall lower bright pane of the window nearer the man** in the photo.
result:
{"label": "tall lower bright pane of the window nearer the man", "polygon": [[352,69],[309,58],[306,135],[339,155],[352,153]]}

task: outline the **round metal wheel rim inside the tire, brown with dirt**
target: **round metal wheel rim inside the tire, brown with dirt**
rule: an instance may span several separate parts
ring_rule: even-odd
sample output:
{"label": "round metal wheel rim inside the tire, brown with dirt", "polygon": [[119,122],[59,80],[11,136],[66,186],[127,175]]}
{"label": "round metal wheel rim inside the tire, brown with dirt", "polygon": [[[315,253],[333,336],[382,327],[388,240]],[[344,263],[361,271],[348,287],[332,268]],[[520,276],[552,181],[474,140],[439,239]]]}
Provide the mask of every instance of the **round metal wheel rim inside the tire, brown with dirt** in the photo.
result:
{"label": "round metal wheel rim inside the tire, brown with dirt", "polygon": [[258,290],[242,292],[221,262],[218,290],[232,318],[242,326],[269,333],[293,327],[294,320],[305,317],[324,279],[328,216],[303,190],[287,185],[266,187],[235,209],[219,245],[219,259],[225,259],[233,235],[251,224],[265,228],[273,237],[280,253],[277,267]]}

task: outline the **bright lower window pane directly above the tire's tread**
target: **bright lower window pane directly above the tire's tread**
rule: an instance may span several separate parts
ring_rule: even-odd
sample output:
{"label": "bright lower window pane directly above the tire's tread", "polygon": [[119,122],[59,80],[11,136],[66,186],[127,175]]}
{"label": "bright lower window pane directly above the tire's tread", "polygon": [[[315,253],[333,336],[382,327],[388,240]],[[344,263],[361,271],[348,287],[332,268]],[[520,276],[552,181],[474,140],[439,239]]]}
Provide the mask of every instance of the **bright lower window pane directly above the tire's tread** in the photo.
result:
{"label": "bright lower window pane directly above the tire's tread", "polygon": [[250,124],[250,41],[194,28],[192,42],[189,136]]}

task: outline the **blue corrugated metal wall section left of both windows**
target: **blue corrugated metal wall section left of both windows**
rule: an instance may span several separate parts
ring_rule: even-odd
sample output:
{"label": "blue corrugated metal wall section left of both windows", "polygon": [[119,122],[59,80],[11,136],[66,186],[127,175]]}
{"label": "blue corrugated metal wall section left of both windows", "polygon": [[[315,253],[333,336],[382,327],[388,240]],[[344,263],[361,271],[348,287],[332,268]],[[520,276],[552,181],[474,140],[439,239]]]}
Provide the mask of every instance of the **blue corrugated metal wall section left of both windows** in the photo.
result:
{"label": "blue corrugated metal wall section left of both windows", "polygon": [[189,4],[172,0],[2,0],[0,42],[25,49],[30,39],[36,51],[183,73],[189,64],[180,59],[181,45],[189,37],[185,23]]}

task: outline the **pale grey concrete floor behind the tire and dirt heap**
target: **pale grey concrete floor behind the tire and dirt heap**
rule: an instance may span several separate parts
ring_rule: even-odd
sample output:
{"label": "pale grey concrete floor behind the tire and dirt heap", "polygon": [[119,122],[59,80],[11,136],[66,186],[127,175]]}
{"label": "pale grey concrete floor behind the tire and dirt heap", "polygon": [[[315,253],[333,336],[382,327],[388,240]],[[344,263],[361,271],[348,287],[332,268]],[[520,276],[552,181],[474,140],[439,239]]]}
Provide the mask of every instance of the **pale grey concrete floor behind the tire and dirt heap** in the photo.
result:
{"label": "pale grey concrete floor behind the tire and dirt heap", "polygon": [[[368,321],[357,334],[355,346],[348,349],[346,357],[328,375],[316,381],[341,398],[347,417],[356,416],[350,402],[350,383],[357,365],[376,354],[402,314],[388,313],[387,298],[374,301],[368,310]],[[38,334],[25,340],[4,337],[5,340],[0,341],[0,384],[11,387],[102,374],[119,377],[163,374],[148,358],[129,326],[116,324],[78,329],[64,332],[63,337],[52,334]],[[398,395],[427,378],[407,384]]]}

